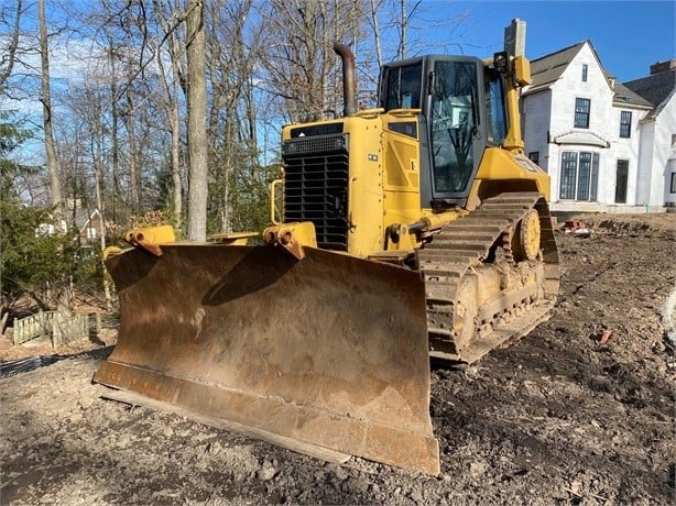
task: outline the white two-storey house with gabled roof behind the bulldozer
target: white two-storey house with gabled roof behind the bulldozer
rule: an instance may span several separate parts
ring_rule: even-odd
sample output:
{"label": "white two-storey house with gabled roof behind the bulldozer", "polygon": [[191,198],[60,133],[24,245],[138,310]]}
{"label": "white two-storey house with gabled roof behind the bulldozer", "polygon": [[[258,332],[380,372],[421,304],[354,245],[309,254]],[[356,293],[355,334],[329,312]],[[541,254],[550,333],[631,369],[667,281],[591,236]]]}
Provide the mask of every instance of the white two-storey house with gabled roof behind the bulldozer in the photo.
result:
{"label": "white two-storey house with gabled roof behind the bulldozer", "polygon": [[650,163],[662,147],[644,147],[654,103],[617,84],[589,41],[534,59],[531,72],[522,105],[525,148],[552,177],[552,210],[663,210],[664,165],[658,170]]}

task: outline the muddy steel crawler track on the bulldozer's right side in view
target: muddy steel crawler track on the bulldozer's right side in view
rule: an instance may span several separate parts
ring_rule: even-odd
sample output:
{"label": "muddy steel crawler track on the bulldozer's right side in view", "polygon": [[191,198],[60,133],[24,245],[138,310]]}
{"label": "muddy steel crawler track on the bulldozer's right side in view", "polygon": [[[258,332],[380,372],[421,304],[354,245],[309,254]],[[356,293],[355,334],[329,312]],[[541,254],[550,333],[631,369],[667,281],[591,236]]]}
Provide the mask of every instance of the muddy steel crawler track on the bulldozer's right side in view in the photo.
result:
{"label": "muddy steel crawler track on the bulldozer's right side in view", "polygon": [[[541,253],[533,261],[515,258],[510,244],[520,220],[536,209],[541,226]],[[425,283],[430,355],[445,361],[472,363],[490,350],[530,332],[546,320],[559,285],[558,254],[552,218],[544,196],[509,193],[483,200],[465,218],[444,226],[432,242],[419,249],[416,263]],[[475,332],[469,343],[457,342],[458,311],[470,302],[459,294],[479,271],[528,275],[542,272],[536,283],[497,292],[477,305]],[[490,273],[489,273],[490,275]],[[460,297],[460,298],[459,298]]]}

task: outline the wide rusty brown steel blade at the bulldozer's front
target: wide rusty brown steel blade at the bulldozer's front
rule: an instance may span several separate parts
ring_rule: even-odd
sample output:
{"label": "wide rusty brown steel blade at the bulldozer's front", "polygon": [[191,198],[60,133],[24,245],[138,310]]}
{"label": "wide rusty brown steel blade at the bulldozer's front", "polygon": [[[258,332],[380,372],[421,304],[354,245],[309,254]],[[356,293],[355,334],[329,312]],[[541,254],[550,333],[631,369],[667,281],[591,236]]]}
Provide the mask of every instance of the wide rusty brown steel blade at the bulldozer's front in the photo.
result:
{"label": "wide rusty brown steel blade at the bulldozer's front", "polygon": [[162,252],[106,261],[121,321],[95,382],[292,449],[438,474],[418,273],[310,248]]}

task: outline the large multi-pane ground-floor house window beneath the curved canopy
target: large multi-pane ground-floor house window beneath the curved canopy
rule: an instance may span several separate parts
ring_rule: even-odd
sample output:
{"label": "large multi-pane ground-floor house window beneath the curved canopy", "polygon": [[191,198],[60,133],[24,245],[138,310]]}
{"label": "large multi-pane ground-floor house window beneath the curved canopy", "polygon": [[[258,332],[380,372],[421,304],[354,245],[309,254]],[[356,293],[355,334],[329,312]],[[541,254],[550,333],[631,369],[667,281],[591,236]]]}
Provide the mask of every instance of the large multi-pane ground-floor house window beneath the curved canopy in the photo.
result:
{"label": "large multi-pane ground-floor house window beneath the curved canopy", "polygon": [[565,151],[561,153],[559,198],[596,201],[599,183],[599,154]]}

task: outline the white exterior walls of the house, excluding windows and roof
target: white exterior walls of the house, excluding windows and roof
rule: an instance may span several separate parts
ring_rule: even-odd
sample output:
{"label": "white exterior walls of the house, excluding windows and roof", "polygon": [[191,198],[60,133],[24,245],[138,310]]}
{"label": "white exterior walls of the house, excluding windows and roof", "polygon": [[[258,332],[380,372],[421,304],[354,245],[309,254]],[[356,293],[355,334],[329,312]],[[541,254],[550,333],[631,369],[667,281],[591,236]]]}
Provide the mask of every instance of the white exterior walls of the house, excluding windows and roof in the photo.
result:
{"label": "white exterior walls of the house, excluding windows and roof", "polygon": [[[582,65],[587,65],[587,80],[582,80]],[[537,151],[539,165],[552,177],[553,210],[645,212],[662,209],[674,201],[669,194],[670,146],[676,134],[676,98],[657,118],[657,127],[645,120],[647,110],[632,103],[614,105],[613,85],[609,82],[592,47],[585,43],[559,79],[542,90],[523,98],[524,142],[526,153]],[[575,128],[576,99],[590,100],[589,128]],[[628,139],[620,138],[622,111],[631,111]],[[664,118],[663,118],[664,117]],[[546,139],[546,132],[549,139]],[[582,140],[581,136],[587,139]],[[575,143],[571,143],[573,139]],[[659,146],[659,147],[657,147]],[[589,201],[561,199],[561,155],[564,152],[598,154],[597,198]],[[618,161],[626,160],[628,180],[625,202],[615,202]]]}

